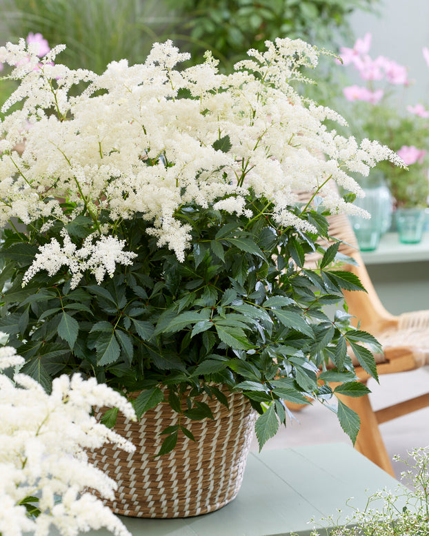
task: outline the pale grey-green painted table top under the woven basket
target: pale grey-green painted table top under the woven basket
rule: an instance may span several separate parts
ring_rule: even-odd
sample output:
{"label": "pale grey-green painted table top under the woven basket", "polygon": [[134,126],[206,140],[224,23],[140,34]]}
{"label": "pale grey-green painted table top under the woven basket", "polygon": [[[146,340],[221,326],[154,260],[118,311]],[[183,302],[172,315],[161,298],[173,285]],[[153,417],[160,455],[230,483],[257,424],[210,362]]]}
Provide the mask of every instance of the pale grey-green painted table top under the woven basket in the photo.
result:
{"label": "pale grey-green painted table top under the woven basket", "polygon": [[368,495],[383,488],[395,491],[397,485],[347,444],[262,451],[250,453],[239,494],[216,512],[186,519],[121,519],[133,536],[288,536],[292,531],[308,536],[311,518],[334,515],[343,522],[352,512],[348,498],[364,508]]}

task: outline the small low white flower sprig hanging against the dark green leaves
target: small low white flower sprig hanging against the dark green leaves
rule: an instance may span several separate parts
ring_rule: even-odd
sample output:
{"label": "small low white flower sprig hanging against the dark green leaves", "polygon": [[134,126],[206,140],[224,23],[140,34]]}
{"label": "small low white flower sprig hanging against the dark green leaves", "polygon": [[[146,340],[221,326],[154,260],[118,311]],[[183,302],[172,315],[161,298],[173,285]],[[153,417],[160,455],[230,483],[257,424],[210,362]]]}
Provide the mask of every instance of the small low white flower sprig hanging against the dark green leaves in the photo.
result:
{"label": "small low white flower sprig hanging against the dark green leaves", "polygon": [[71,289],[79,285],[86,270],[94,274],[97,283],[100,284],[106,272],[112,277],[117,264],[130,265],[132,259],[137,256],[132,251],[123,251],[125,240],[118,240],[115,236],[101,236],[94,244],[92,244],[94,236],[87,236],[81,249],[77,249],[65,230],[61,231],[61,235],[64,241],[63,247],[56,238],[39,247],[40,253],[36,254],[34,262],[24,274],[23,287],[38,271],[46,270],[49,276],[53,276],[61,266],[67,266],[72,274]]}

